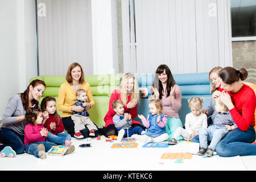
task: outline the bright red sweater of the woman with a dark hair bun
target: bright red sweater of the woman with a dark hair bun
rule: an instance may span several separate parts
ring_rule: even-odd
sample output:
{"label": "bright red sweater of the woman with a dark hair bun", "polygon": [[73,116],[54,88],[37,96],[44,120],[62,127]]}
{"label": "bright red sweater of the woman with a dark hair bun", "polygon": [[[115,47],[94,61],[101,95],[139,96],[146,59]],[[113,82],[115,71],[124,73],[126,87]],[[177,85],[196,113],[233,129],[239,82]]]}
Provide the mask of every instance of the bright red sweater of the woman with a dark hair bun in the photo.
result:
{"label": "bright red sweater of the woman with a dark hair bun", "polygon": [[[219,87],[218,90],[222,92],[223,89]],[[255,126],[256,97],[254,90],[250,86],[243,84],[237,93],[228,93],[232,97],[234,104],[234,108],[229,111],[238,128],[246,131],[250,125]]]}

